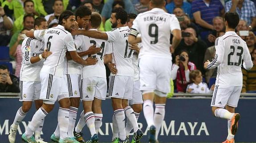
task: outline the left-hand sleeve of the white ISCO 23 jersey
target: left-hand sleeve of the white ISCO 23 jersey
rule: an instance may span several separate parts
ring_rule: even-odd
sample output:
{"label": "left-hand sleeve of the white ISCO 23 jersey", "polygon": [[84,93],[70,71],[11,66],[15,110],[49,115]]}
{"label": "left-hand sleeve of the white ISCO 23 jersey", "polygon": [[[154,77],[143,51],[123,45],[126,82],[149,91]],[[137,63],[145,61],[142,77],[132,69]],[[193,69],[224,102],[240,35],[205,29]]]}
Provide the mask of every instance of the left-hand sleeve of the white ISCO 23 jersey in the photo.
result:
{"label": "left-hand sleeve of the white ISCO 23 jersey", "polygon": [[207,69],[214,69],[215,67],[219,66],[219,64],[223,61],[225,49],[223,39],[217,38],[215,40],[215,57],[214,59],[207,65]]}

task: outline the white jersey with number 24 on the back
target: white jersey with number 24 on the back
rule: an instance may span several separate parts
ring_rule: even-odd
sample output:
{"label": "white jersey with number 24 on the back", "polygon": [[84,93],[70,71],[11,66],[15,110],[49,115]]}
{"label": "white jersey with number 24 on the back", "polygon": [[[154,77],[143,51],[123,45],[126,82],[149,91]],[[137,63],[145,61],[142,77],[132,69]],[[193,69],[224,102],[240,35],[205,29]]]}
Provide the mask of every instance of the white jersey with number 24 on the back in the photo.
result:
{"label": "white jersey with number 24 on the back", "polygon": [[[96,29],[90,29],[95,31]],[[97,30],[96,30],[97,31]],[[104,65],[104,55],[112,53],[112,47],[110,43],[106,40],[102,39],[94,39],[84,35],[78,35],[75,39],[75,44],[77,48],[81,48],[81,51],[84,52],[89,50],[90,46],[96,45],[96,47],[101,47],[101,51],[97,54],[86,55],[82,58],[85,60],[86,58],[93,56],[93,58],[97,58],[98,62],[96,65],[84,66],[82,70],[82,79],[87,77],[103,77],[106,78],[106,68]]]}

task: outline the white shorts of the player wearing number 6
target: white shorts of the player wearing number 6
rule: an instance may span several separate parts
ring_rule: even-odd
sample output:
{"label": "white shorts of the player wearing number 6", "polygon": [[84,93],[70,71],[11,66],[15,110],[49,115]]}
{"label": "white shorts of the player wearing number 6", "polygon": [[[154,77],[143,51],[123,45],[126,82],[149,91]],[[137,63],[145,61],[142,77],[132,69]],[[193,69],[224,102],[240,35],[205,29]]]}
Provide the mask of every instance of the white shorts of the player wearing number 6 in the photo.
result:
{"label": "white shorts of the player wearing number 6", "polygon": [[65,95],[64,97],[69,97],[69,90],[64,77],[40,72],[40,79],[42,85],[40,99],[56,101],[61,100],[59,96],[62,98],[63,95]]}

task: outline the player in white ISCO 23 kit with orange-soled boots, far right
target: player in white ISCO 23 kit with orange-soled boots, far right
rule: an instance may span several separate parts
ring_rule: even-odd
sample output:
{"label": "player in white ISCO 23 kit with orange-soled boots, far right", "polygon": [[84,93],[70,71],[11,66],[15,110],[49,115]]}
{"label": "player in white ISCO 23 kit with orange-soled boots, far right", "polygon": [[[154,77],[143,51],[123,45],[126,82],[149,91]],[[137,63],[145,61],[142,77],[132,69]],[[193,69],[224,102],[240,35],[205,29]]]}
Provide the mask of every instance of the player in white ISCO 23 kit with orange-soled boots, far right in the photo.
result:
{"label": "player in white ISCO 23 kit with orange-soled boots, far right", "polygon": [[211,100],[211,111],[215,117],[228,119],[228,137],[223,143],[235,143],[240,114],[235,113],[243,86],[242,61],[244,68],[253,66],[248,47],[235,32],[239,23],[236,12],[225,13],[226,33],[215,40],[215,58],[204,63],[204,68],[218,67],[215,89]]}

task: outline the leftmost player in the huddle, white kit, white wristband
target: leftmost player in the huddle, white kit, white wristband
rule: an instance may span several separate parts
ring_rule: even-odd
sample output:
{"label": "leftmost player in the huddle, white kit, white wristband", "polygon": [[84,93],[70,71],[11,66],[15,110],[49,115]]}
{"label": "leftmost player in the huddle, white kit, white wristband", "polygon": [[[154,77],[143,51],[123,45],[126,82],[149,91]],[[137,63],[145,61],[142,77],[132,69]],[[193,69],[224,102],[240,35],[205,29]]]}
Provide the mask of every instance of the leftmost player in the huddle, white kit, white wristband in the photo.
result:
{"label": "leftmost player in the huddle, white kit, white wristband", "polygon": [[[45,18],[37,17],[34,22],[35,30],[47,29],[47,21]],[[16,131],[20,122],[24,119],[27,112],[32,106],[32,101],[35,101],[36,109],[38,110],[43,100],[40,100],[41,82],[39,73],[43,66],[44,59],[52,54],[51,51],[44,51],[45,44],[41,40],[34,38],[26,38],[22,42],[22,63],[20,70],[20,101],[22,106],[18,109],[14,121],[10,127],[10,135],[8,136],[10,143],[15,143]],[[37,143],[45,143],[41,138],[41,131],[44,120],[36,128],[35,139]]]}

